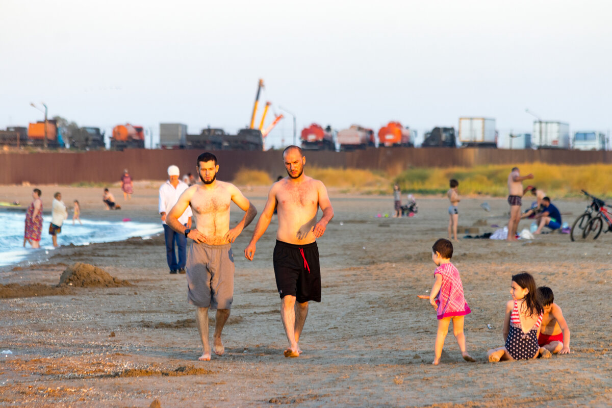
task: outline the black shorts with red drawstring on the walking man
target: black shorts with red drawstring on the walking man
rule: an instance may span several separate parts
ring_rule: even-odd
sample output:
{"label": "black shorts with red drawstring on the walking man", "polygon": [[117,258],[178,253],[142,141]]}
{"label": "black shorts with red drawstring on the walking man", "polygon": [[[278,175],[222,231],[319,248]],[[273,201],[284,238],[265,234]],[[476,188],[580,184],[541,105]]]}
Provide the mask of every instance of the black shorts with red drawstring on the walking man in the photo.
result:
{"label": "black shorts with red drawstring on the walking man", "polygon": [[321,268],[316,242],[294,245],[277,240],[272,259],[280,299],[291,295],[296,297],[297,303],[321,302]]}

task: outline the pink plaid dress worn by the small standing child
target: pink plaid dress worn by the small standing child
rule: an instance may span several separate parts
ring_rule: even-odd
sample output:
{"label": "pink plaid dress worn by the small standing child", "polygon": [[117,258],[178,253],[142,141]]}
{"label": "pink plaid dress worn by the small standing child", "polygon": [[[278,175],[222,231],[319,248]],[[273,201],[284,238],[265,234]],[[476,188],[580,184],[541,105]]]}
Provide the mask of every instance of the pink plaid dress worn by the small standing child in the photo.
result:
{"label": "pink plaid dress worn by the small standing child", "polygon": [[453,316],[465,316],[470,313],[468,302],[465,301],[463,296],[463,284],[459,277],[459,271],[455,268],[455,265],[441,264],[436,268],[433,276],[436,273],[442,275],[442,286],[438,293],[438,319],[444,319],[444,317]]}

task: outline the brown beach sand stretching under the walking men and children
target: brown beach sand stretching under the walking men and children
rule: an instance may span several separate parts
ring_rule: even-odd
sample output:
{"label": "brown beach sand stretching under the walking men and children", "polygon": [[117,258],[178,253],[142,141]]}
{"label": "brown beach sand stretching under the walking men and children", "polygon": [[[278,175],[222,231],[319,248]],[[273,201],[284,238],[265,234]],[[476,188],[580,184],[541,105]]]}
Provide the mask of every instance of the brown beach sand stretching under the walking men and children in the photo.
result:
{"label": "brown beach sand stretching under the walking men and children", "polygon": [[[157,182],[136,185],[121,211],[105,211],[102,188],[42,187],[77,198],[82,218],[157,218]],[[29,203],[31,187],[4,186],[0,201]],[[266,188],[244,188],[258,209]],[[163,236],[88,247],[62,247],[38,263],[0,268],[0,284],[53,286],[83,262],[124,287],[71,287],[70,292],[0,300],[0,405],[22,407],[202,406],[610,406],[612,398],[612,237],[570,242],[547,234],[506,243],[461,239],[458,267],[472,313],[466,317],[464,362],[449,333],[442,362],[431,366],[436,316],[418,299],[433,283],[431,244],[446,237],[447,201],[417,198],[414,218],[378,218],[392,198],[330,191],[335,218],[319,239],[323,302],[312,303],[299,358],[284,358],[286,339],[272,273],[276,221],[259,240],[255,260],[242,254],[253,231],[234,243],[234,305],[224,330],[226,354],[198,362],[195,311],[185,275],[170,275]],[[480,204],[487,201],[491,212]],[[528,201],[528,200],[526,200]],[[585,201],[555,202],[572,222]],[[503,226],[504,199],[468,198],[460,224],[493,231]],[[232,223],[241,213],[233,207]],[[529,228],[522,221],[521,228]],[[472,230],[474,231],[474,230]],[[461,234],[463,235],[463,234]],[[510,276],[527,271],[552,287],[572,331],[572,354],[550,360],[486,362],[503,345]],[[211,314],[214,321],[214,314]],[[211,322],[212,324],[212,322]],[[491,329],[488,328],[491,325]]]}

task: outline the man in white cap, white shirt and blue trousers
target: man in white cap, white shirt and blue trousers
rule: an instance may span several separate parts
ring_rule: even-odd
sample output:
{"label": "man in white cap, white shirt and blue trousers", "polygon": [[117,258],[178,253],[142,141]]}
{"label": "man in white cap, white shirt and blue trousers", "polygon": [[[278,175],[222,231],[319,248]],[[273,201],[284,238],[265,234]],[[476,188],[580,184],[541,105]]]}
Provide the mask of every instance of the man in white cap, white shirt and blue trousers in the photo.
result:
{"label": "man in white cap, white shirt and blue trousers", "polygon": [[[168,261],[170,273],[185,273],[185,264],[187,263],[187,237],[184,234],[178,234],[166,224],[166,215],[170,213],[170,210],[174,207],[183,191],[189,187],[179,180],[179,174],[177,166],[172,165],[168,167],[168,180],[159,188],[159,213],[162,216],[163,232],[166,239],[166,261]],[[183,226],[191,228],[191,207],[187,207],[182,215],[178,217],[178,220]],[[176,261],[177,256],[174,253],[174,242],[176,242],[178,247],[178,262]]]}

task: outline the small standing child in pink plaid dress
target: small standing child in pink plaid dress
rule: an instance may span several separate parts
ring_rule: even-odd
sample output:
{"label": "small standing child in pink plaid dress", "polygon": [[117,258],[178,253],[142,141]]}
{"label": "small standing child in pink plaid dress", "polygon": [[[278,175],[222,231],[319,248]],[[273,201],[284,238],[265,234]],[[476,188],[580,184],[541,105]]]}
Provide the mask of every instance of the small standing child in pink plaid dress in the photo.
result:
{"label": "small standing child in pink plaid dress", "polygon": [[431,306],[438,312],[438,335],[434,347],[435,357],[433,365],[438,365],[442,356],[444,339],[449,332],[450,321],[453,321],[453,335],[457,339],[461,356],[466,362],[475,362],[465,349],[465,335],[463,334],[463,321],[466,314],[470,313],[468,302],[463,295],[463,284],[459,271],[455,265],[450,263],[453,256],[453,244],[447,239],[439,239],[431,247],[431,260],[438,265],[433,276],[435,282],[431,287],[429,296],[419,296],[429,299]]}

